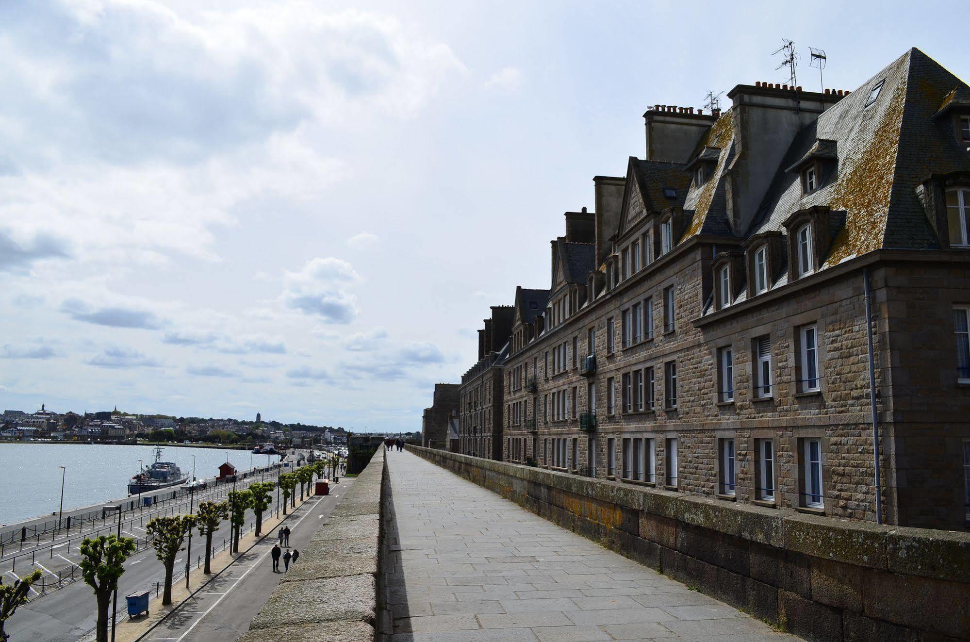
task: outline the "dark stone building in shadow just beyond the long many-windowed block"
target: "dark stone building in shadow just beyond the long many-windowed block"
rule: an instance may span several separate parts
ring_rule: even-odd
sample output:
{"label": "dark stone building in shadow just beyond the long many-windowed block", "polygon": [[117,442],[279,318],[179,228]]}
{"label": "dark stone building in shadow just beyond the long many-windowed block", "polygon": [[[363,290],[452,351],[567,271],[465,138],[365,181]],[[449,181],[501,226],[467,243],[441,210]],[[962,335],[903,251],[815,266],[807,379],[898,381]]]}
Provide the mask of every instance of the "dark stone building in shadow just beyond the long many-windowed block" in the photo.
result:
{"label": "dark stone building in shadow just beyond the long many-windowed block", "polygon": [[501,372],[508,357],[513,307],[493,305],[478,331],[478,361],[462,375],[458,452],[501,461]]}

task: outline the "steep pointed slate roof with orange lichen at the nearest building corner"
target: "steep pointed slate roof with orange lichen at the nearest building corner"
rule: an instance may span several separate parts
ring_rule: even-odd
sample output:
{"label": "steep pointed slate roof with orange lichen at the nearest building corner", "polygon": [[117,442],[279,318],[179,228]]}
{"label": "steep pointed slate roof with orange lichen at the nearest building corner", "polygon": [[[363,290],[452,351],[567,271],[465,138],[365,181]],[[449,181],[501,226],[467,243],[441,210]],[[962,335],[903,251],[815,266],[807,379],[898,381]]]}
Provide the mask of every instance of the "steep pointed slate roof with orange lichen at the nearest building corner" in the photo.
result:
{"label": "steep pointed slate roof with orange lichen at the nearest building corner", "polygon": [[[866,105],[880,82],[878,98]],[[845,211],[846,220],[823,268],[882,247],[935,247],[916,188],[932,173],[970,170],[952,127],[933,119],[951,92],[967,90],[921,50],[908,50],[795,136],[749,234],[783,230],[792,212],[825,206]],[[822,140],[837,148],[837,171],[803,196],[800,178],[783,168]]]}

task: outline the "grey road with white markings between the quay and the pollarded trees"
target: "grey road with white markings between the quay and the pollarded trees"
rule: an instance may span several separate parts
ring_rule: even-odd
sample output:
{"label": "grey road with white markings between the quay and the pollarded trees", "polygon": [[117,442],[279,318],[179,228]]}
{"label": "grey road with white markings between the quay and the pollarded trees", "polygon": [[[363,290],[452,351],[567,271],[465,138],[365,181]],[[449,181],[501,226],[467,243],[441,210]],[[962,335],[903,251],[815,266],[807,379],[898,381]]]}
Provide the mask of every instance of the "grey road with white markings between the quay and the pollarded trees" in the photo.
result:
{"label": "grey road with white markings between the quay and the pollarded trees", "polygon": [[[286,468],[283,469],[284,471]],[[269,480],[269,476],[267,477]],[[256,478],[245,480],[246,482],[256,481]],[[242,486],[242,482],[237,486],[239,488]],[[225,489],[225,487],[220,487],[220,490]],[[229,485],[228,490],[232,490],[232,486]],[[297,490],[299,493],[299,489]],[[198,499],[198,496],[197,496]],[[196,503],[198,505],[198,503]],[[271,512],[275,514],[277,508],[276,496],[273,496],[273,503],[267,509],[266,515]],[[185,503],[182,512],[188,512],[188,504]],[[171,511],[169,514],[172,514]],[[247,512],[245,525],[242,527],[242,532],[251,530],[255,522],[255,517],[252,515],[251,511]],[[147,519],[145,519],[147,523]],[[123,523],[126,524],[126,523]],[[116,525],[114,529],[116,530]],[[142,530],[138,530],[138,521],[136,520],[131,531],[139,535],[144,535]],[[122,526],[122,532],[124,532],[124,526]],[[224,545],[228,545],[229,540],[229,524],[228,521],[222,523],[219,530],[216,531],[213,541],[212,548],[213,552],[222,550]],[[72,542],[72,547],[77,546],[76,542]],[[78,550],[73,548],[70,553],[66,552],[66,545],[64,547],[65,553],[59,553],[59,549],[54,552],[52,559],[48,560],[38,560],[34,567],[39,567],[45,572],[56,573],[59,569],[67,567],[69,564],[78,562]],[[193,560],[193,567],[199,560],[201,560],[202,555],[205,552],[205,539],[199,536],[198,531],[193,531],[192,536],[192,552],[191,558]],[[45,556],[49,556],[49,552],[45,552]],[[180,567],[184,571],[185,559],[180,558],[176,564],[177,572]],[[22,569],[21,569],[22,566]],[[28,565],[24,562],[17,562],[17,572],[23,574],[26,572]],[[123,603],[123,597],[126,594],[136,593],[138,591],[151,591],[154,594],[156,583],[161,583],[165,578],[165,569],[161,562],[155,558],[154,549],[150,546],[144,551],[136,553],[134,556],[125,562],[125,573],[121,576],[118,587],[119,603],[118,612],[119,618],[125,613],[125,604]],[[6,570],[6,569],[5,569]],[[8,579],[13,579],[9,574]],[[184,581],[184,575],[181,576],[182,581]],[[88,631],[92,630],[95,626],[95,604],[94,595],[90,587],[85,585],[82,581],[74,582],[64,586],[64,588],[55,591],[51,594],[37,597],[31,600],[27,604],[19,607],[16,614],[7,622],[7,632],[11,636],[11,640],[16,642],[17,640],[30,639],[31,642],[68,642],[77,640],[83,636]]]}

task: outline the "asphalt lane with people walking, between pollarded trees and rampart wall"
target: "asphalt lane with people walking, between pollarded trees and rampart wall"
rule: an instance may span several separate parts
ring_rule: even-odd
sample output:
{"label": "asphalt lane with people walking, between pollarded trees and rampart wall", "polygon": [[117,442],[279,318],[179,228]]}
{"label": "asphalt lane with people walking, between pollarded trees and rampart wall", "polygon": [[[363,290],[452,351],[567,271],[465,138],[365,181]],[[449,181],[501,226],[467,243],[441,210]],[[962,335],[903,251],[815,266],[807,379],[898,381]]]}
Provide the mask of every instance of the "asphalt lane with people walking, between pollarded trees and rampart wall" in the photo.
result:
{"label": "asphalt lane with people walking, between pollarded trees and rampart wall", "polygon": [[[301,505],[286,522],[289,526],[290,550],[307,546],[316,530],[327,521],[339,498],[353,484],[341,478],[331,487],[329,496],[311,499]],[[150,631],[146,642],[234,642],[249,628],[256,612],[266,603],[279,584],[281,573],[273,571],[270,549],[277,541],[265,538],[229,566],[192,598],[185,600],[174,615]],[[285,550],[284,550],[285,552]],[[279,567],[283,567],[280,560]]]}

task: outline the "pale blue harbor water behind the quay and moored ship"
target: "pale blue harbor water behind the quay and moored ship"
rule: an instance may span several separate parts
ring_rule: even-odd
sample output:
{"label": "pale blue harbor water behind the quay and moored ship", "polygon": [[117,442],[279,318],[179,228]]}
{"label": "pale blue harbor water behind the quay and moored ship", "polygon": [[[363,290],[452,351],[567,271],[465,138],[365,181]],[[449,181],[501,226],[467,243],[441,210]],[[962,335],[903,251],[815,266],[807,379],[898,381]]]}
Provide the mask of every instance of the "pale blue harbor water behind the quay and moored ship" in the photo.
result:
{"label": "pale blue harbor water behind the quay and moored ship", "polygon": [[[162,461],[175,462],[183,474],[199,479],[218,474],[228,461],[240,472],[250,465],[264,466],[279,461],[278,455],[251,455],[245,450],[162,446]],[[0,443],[0,525],[50,515],[60,504],[61,469],[64,481],[64,510],[124,498],[128,482],[138,472],[139,460],[146,466],[155,461],[154,446],[109,444]]]}

